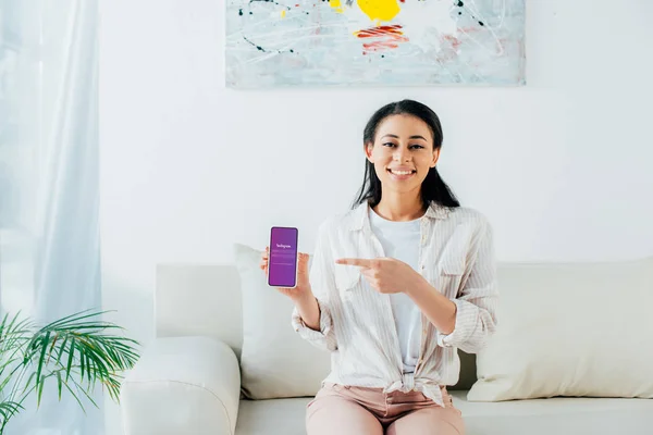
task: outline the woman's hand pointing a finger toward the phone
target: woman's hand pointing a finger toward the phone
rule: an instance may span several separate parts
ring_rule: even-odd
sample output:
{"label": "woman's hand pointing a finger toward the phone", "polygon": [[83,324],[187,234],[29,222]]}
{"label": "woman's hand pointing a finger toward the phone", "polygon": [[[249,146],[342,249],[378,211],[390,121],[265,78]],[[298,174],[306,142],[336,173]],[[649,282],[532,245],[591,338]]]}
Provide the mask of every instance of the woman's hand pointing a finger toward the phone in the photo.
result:
{"label": "woman's hand pointing a finger toward the phone", "polygon": [[422,278],[410,265],[392,258],[338,259],[335,263],[360,268],[370,286],[382,294],[406,291]]}

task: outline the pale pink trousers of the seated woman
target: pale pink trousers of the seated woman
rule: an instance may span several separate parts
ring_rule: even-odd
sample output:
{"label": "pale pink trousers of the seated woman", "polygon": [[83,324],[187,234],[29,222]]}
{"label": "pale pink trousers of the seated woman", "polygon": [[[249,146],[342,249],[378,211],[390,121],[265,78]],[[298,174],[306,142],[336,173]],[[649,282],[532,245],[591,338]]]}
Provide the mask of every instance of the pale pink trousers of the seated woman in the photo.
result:
{"label": "pale pink trousers of the seated woman", "polygon": [[444,408],[419,391],[324,384],[306,410],[308,435],[464,435],[460,411],[442,388]]}

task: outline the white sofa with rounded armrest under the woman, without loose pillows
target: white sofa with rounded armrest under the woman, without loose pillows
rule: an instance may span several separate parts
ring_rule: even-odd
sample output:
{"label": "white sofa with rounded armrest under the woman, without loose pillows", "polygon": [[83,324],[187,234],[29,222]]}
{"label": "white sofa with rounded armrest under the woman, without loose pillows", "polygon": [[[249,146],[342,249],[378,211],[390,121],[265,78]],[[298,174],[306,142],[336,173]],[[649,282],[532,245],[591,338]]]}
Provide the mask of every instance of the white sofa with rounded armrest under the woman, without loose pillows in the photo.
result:
{"label": "white sofa with rounded armrest under the woman, without loose pillows", "polygon": [[[648,264],[652,266],[653,262],[649,260]],[[641,269],[641,264],[638,266]],[[542,281],[535,276],[538,273],[564,275],[574,266],[560,269],[557,265],[544,271],[520,268],[500,265],[500,278],[505,277],[504,286],[500,286],[502,294],[510,295],[506,286],[522,286],[519,291],[529,291],[526,284],[531,278]],[[583,273],[594,274],[590,271],[609,268],[602,264],[574,273],[584,279]],[[653,290],[653,278],[646,277],[653,274],[642,276],[640,284],[643,279],[642,285]],[[568,277],[564,279],[567,282]],[[125,435],[305,434],[305,407],[310,397],[248,400],[241,393],[243,297],[236,266],[159,265],[155,299],[156,339],[148,344],[122,387]],[[628,322],[631,314],[624,313],[618,322]],[[267,327],[291,328],[289,312],[283,313],[281,319],[285,321]],[[509,319],[506,322],[509,323]],[[609,326],[606,331],[615,328]],[[644,344],[653,347],[653,335]],[[461,355],[460,382],[451,389],[454,403],[465,418],[468,435],[653,434],[653,400],[650,399],[470,401],[468,389],[477,380],[475,360]],[[650,363],[653,365],[653,360]]]}

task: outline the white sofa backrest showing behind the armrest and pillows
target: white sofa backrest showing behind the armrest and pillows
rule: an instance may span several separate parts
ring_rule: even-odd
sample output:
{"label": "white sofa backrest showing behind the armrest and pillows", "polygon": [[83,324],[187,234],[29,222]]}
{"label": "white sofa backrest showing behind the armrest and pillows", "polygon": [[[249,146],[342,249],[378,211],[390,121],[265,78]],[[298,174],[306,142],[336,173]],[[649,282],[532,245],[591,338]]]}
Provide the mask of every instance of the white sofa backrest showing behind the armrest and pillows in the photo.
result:
{"label": "white sofa backrest showing behind the armrest and pillows", "polygon": [[[226,343],[241,359],[243,300],[233,264],[158,264],[155,293],[157,337],[209,336]],[[287,322],[289,326],[289,319]],[[476,382],[473,356],[460,353],[460,381],[451,389]]]}

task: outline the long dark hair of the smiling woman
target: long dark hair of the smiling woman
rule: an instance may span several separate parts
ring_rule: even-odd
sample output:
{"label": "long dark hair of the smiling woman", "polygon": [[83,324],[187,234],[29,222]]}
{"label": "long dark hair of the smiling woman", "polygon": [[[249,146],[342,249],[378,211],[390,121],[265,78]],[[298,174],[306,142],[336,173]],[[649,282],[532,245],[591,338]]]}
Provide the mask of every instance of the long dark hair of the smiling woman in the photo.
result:
{"label": "long dark hair of the smiling woman", "polygon": [[[433,135],[433,150],[442,148],[442,125],[438,114],[426,104],[414,100],[402,100],[391,102],[379,109],[368,121],[362,134],[365,146],[373,144],[377,137],[379,124],[391,115],[411,115],[422,120]],[[431,167],[421,185],[421,199],[424,208],[431,202],[444,207],[460,207],[460,203],[449,189],[449,187],[440,177],[436,167]],[[374,172],[374,164],[366,159],[365,175],[362,186],[354,201],[353,208],[368,201],[370,207],[377,206],[381,201],[381,181]]]}

